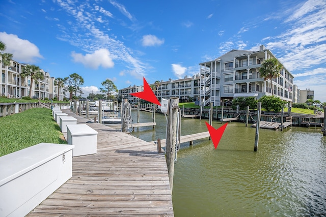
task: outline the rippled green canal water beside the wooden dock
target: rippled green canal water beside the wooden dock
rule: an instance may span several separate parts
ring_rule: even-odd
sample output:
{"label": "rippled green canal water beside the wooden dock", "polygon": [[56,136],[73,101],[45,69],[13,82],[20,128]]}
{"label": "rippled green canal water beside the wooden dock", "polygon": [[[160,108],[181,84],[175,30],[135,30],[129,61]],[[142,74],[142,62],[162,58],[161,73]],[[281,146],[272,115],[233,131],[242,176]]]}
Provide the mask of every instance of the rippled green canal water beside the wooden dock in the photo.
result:
{"label": "rippled green canal water beside the wooden dock", "polygon": [[[133,112],[137,120],[137,113]],[[141,122],[151,114],[141,112]],[[165,138],[166,119],[136,129],[146,141]],[[221,127],[213,121],[213,127]],[[184,119],[181,135],[207,131],[205,120]],[[232,122],[218,148],[207,139],[182,144],[175,164],[175,216],[326,216],[326,137],[320,128],[260,129]]]}

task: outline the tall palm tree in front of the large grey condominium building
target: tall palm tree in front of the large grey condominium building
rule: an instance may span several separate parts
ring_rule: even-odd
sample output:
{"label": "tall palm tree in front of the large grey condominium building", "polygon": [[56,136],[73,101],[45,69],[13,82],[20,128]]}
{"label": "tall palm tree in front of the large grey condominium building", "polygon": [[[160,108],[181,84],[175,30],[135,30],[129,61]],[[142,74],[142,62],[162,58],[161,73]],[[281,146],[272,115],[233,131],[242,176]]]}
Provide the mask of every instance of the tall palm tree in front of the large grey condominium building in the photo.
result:
{"label": "tall palm tree in front of the large grey condominium building", "polygon": [[276,58],[265,59],[259,68],[259,73],[264,80],[270,79],[271,94],[274,96],[273,78],[279,77],[280,71],[283,68],[282,64]]}

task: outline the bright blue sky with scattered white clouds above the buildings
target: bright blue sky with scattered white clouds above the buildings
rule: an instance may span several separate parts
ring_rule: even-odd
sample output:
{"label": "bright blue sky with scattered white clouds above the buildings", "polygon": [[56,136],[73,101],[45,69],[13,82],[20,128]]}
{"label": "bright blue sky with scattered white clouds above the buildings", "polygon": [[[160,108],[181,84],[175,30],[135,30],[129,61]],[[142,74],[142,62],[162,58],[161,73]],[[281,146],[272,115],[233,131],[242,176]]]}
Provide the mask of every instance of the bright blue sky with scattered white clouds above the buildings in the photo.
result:
{"label": "bright blue sky with scattered white clouds above the buildings", "polygon": [[199,73],[199,63],[264,44],[300,89],[326,102],[325,0],[2,1],[0,41],[52,77],[77,73],[84,96]]}

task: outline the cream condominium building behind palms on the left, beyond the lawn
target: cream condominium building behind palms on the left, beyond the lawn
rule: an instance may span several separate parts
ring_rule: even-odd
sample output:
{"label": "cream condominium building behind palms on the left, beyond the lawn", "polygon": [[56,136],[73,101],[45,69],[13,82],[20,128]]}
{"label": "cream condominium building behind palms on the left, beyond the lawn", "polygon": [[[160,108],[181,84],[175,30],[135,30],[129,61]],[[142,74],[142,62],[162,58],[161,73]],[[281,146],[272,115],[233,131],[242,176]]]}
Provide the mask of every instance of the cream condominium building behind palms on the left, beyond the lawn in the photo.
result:
{"label": "cream condominium building behind palms on the left, beyond the lawn", "polygon": [[[45,72],[43,69],[40,71],[43,72],[44,78],[38,79],[36,82],[31,83],[31,77],[21,77],[21,72],[23,68],[28,64],[21,64],[15,60],[11,61],[10,66],[2,66],[2,79],[0,81],[1,92],[0,96],[5,96],[8,98],[22,98],[25,96],[29,96],[30,94],[30,86],[32,85],[32,97],[36,98],[48,98],[52,99],[52,97],[58,97],[58,92],[54,92],[54,90],[58,90],[58,86],[54,85],[54,78],[50,77],[48,72]],[[63,99],[61,93],[59,96],[60,100]]]}

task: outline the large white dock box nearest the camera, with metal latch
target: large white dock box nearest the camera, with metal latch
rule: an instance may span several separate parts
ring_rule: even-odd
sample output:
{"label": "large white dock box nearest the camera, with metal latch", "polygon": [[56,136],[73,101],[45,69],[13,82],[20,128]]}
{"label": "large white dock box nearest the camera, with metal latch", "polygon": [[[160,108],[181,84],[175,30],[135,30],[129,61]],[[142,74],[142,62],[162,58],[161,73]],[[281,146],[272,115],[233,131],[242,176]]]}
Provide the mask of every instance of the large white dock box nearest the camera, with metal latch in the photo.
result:
{"label": "large white dock box nearest the camera, with metal latch", "polygon": [[71,178],[72,148],[40,143],[0,157],[0,216],[25,216]]}

